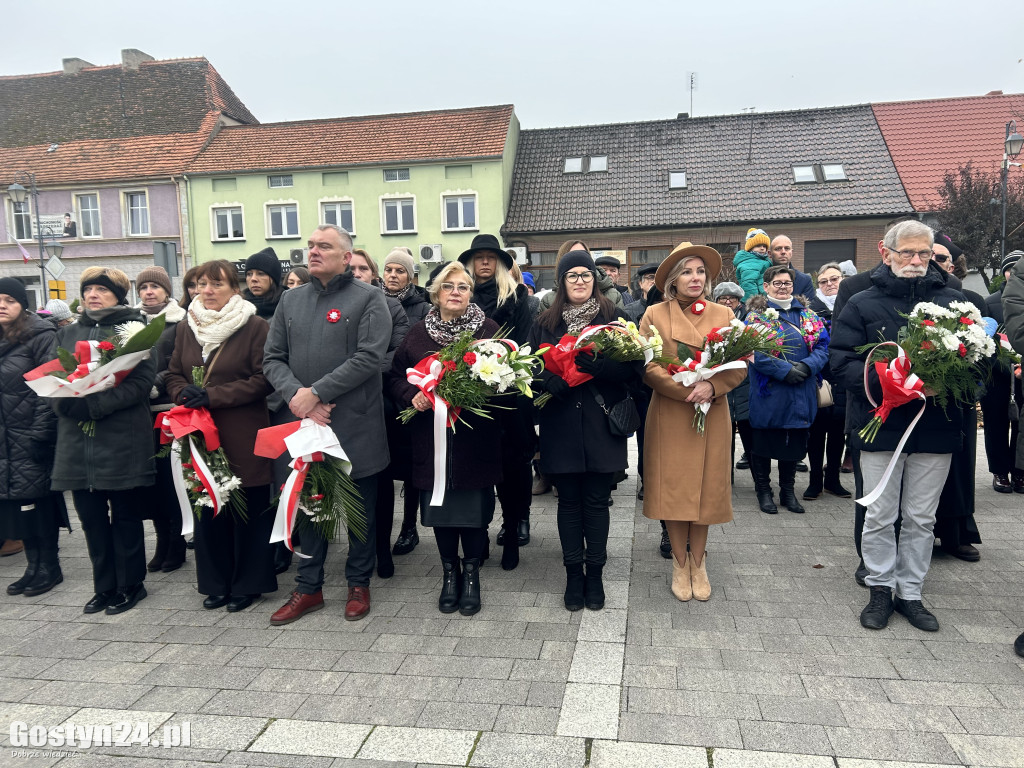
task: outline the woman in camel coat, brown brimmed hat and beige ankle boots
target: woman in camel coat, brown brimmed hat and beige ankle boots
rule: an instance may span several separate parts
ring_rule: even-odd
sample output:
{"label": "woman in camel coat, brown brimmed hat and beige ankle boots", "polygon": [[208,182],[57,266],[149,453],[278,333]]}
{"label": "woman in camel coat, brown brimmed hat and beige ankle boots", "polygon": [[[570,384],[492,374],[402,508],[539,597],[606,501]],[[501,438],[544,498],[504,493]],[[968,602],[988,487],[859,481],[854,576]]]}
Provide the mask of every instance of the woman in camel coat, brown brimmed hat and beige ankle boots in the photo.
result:
{"label": "woman in camel coat, brown brimmed hat and beige ankle boots", "polygon": [[[666,354],[679,343],[694,353],[716,328],[728,326],[732,311],[709,298],[708,288],[722,270],[722,257],[708,246],[681,243],[657,268],[654,285],[665,301],[644,313],[640,332],[656,328]],[[645,517],[665,520],[672,542],[672,594],[680,600],[708,600],[705,548],[708,526],[732,519],[729,479],[732,422],[726,393],[746,377],[745,369],[724,371],[691,387],[673,381],[657,362],[647,364],[644,382],[653,389],[644,441]],[[694,407],[710,402],[703,435],[693,427]]]}

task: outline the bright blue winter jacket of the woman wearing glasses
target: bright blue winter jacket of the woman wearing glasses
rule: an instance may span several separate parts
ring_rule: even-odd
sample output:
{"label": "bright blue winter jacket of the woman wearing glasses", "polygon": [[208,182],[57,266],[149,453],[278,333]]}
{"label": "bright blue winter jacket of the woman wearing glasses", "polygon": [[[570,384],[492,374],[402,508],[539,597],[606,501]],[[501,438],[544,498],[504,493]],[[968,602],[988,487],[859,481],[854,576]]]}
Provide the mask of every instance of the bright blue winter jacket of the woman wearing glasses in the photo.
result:
{"label": "bright blue winter jacket of the woman wearing glasses", "polygon": [[[828,361],[828,332],[822,330],[813,349],[808,349],[800,332],[800,313],[804,305],[794,299],[790,309],[780,309],[771,300],[758,297],[748,304],[752,312],[767,307],[778,310],[785,333],[786,351],[780,357],[758,352],[750,366],[751,426],[755,429],[808,429],[818,412],[818,374]],[[749,314],[748,323],[753,322]],[[792,325],[791,325],[792,324]],[[786,384],[783,379],[794,362],[803,362],[810,370],[800,384]]]}

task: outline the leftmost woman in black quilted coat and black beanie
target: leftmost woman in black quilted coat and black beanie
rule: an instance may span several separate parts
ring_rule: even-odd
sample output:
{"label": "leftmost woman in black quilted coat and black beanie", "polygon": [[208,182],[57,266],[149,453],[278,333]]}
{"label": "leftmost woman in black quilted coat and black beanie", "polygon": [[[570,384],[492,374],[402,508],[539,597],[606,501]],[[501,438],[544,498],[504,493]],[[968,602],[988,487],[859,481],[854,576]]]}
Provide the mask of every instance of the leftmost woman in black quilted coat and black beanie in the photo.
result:
{"label": "leftmost woman in black quilted coat and black beanie", "polygon": [[29,561],[8,595],[42,595],[63,581],[57,531],[68,513],[50,493],[56,417],[24,378],[54,357],[53,325],[29,311],[19,281],[0,280],[0,539],[22,540]]}

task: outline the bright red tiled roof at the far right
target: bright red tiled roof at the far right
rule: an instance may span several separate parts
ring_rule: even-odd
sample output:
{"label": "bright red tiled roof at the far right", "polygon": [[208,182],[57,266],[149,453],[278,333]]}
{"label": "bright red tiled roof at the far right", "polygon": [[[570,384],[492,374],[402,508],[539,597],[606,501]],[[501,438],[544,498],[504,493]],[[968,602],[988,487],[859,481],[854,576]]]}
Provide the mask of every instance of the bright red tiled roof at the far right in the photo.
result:
{"label": "bright red tiled roof at the far right", "polygon": [[937,187],[947,171],[968,162],[997,171],[1008,121],[1016,120],[1024,132],[1024,93],[892,101],[871,109],[915,211],[939,207]]}

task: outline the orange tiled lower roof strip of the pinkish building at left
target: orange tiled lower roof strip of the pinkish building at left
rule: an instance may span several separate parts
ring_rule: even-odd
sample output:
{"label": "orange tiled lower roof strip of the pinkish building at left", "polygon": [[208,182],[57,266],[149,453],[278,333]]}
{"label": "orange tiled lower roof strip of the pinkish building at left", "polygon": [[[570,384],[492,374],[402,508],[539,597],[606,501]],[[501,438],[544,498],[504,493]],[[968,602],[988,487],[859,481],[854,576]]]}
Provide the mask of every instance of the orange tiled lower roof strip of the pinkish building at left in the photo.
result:
{"label": "orange tiled lower roof strip of the pinkish building at left", "polygon": [[37,184],[177,176],[217,120],[211,112],[196,132],[67,141],[53,152],[49,144],[0,147],[0,178],[13,178],[26,169],[36,174]]}

